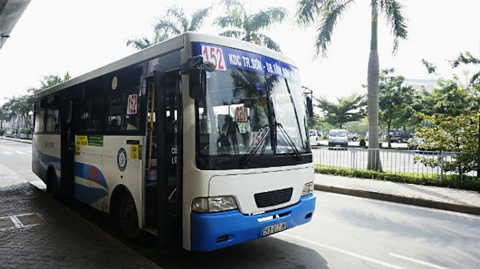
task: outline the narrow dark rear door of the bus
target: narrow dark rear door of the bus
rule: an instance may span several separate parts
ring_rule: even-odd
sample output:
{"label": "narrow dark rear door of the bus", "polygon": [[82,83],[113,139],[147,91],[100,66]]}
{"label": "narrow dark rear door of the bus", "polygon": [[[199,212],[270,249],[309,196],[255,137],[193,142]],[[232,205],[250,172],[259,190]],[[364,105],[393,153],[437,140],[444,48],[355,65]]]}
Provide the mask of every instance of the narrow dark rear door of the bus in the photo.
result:
{"label": "narrow dark rear door of the bus", "polygon": [[73,197],[75,186],[75,100],[62,97],[60,102],[60,173],[61,196]]}

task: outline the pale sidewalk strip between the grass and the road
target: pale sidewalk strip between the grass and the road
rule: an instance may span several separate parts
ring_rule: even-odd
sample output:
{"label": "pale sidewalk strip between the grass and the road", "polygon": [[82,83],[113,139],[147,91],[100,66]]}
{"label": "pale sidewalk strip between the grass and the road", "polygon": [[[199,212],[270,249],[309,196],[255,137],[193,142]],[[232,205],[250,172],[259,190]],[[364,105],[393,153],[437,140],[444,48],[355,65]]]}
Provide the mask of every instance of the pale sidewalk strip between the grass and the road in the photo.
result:
{"label": "pale sidewalk strip between the grass and the road", "polygon": [[480,215],[477,191],[325,174],[315,174],[315,190]]}

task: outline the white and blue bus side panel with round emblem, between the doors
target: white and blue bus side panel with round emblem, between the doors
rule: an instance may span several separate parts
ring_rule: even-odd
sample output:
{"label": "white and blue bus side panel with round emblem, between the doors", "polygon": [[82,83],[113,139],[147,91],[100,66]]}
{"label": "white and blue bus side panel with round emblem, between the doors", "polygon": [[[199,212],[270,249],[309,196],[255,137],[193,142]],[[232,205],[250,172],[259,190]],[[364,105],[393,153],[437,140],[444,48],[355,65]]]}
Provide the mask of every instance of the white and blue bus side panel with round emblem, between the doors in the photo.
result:
{"label": "white and blue bus side panel with round emblem, between the doors", "polygon": [[76,136],[75,141],[75,198],[109,212],[112,191],[123,185],[134,199],[141,226],[143,136]]}

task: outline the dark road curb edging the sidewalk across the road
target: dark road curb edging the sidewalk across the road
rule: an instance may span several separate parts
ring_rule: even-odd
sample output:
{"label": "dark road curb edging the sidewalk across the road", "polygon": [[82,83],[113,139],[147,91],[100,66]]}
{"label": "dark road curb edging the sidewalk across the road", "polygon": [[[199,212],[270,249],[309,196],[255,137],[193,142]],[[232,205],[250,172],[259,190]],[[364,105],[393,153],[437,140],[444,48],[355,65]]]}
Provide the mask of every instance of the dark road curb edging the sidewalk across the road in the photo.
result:
{"label": "dark road curb edging the sidewalk across the road", "polygon": [[382,194],[376,191],[363,191],[360,189],[347,189],[342,187],[334,187],[328,185],[315,184],[315,190],[328,191],[335,194],[346,194],[350,196],[357,196],[362,198],[370,198],[375,200],[384,200],[388,202],[399,202],[401,204],[411,204],[418,207],[429,207],[433,209],[443,209],[448,211],[455,211],[459,213],[468,213],[480,215],[480,207],[475,207],[470,204],[457,204],[453,202],[440,202],[424,198],[413,198],[407,196],[397,196],[393,194]]}

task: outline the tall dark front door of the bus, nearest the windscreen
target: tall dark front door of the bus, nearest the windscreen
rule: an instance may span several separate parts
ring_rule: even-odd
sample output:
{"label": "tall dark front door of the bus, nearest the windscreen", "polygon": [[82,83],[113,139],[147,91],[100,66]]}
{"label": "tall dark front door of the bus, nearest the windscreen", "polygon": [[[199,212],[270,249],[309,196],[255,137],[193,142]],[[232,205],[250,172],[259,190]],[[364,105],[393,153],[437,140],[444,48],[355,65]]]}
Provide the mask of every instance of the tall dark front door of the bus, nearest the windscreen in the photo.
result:
{"label": "tall dark front door of the bus, nearest the windscreen", "polygon": [[[158,242],[182,235],[182,115],[180,70],[155,72]],[[157,98],[158,97],[158,98]]]}

